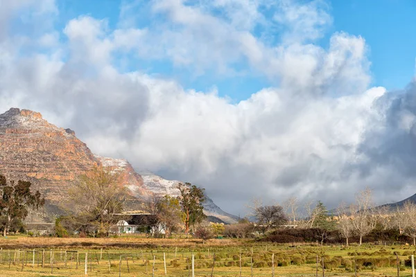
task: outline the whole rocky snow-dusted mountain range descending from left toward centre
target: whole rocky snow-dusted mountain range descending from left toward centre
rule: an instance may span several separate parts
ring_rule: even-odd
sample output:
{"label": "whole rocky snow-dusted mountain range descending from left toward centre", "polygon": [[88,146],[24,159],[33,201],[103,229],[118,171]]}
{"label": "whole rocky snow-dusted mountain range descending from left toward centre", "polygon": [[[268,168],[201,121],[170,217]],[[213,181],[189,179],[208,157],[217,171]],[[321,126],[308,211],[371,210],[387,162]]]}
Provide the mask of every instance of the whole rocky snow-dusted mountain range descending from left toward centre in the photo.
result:
{"label": "whole rocky snow-dusted mountain range descending from left toward centre", "polygon": [[[122,185],[130,194],[127,209],[139,209],[140,200],[150,195],[179,194],[179,181],[168,181],[151,172],[141,175],[124,159],[95,155],[73,130],[48,123],[40,113],[12,108],[0,114],[0,174],[10,180],[31,181],[33,189],[40,190],[47,204],[35,217],[53,220],[62,213],[59,204],[67,188],[95,165],[121,174]],[[205,213],[227,223],[236,222],[234,215],[222,211],[209,197]]]}

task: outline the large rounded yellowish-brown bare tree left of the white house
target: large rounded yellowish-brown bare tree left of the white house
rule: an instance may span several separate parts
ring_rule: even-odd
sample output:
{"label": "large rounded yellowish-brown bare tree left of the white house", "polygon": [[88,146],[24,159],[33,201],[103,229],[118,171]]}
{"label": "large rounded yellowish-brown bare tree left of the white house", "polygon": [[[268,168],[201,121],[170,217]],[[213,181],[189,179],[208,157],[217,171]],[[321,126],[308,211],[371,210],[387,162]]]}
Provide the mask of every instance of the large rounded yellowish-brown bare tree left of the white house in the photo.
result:
{"label": "large rounded yellowish-brown bare tree left of the white house", "polygon": [[126,190],[116,172],[102,166],[81,175],[68,190],[69,209],[73,219],[84,225],[94,225],[98,235],[108,235],[109,228],[119,220]]}

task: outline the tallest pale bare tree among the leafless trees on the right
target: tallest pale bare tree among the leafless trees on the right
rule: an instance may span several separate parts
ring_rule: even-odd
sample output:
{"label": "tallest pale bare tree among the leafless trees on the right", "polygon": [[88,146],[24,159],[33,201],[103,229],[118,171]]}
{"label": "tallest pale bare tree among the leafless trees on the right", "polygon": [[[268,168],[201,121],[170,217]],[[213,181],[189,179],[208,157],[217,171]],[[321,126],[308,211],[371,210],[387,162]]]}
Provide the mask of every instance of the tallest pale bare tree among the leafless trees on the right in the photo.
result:
{"label": "tallest pale bare tree among the leafless trees on the right", "polygon": [[356,203],[350,206],[349,213],[351,214],[354,233],[360,237],[361,245],[363,236],[370,233],[376,226],[372,191],[369,188],[356,195]]}

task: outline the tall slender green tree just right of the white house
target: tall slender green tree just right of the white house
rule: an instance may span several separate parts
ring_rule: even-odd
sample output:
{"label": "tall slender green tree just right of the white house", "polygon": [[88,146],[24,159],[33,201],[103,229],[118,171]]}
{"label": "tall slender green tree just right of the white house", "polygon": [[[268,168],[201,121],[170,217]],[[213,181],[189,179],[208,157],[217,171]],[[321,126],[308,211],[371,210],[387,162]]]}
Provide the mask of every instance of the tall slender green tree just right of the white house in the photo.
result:
{"label": "tall slender green tree just right of the white house", "polygon": [[178,199],[183,212],[182,221],[185,225],[185,233],[188,234],[191,225],[202,222],[206,217],[202,206],[202,203],[205,202],[205,189],[185,183],[179,185],[179,190],[180,197]]}

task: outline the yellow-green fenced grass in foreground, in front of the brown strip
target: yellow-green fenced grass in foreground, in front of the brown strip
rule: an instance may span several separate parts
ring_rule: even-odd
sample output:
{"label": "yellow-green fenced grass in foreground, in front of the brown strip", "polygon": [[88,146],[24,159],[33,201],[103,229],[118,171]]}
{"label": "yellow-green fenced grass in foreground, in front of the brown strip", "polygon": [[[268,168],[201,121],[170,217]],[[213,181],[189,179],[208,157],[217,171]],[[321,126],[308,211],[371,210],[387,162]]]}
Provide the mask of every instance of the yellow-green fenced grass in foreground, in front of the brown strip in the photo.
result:
{"label": "yellow-green fenced grass in foreground, in front of the brown strip", "polygon": [[[370,244],[361,247],[320,247],[311,244],[291,247],[288,244],[245,241],[241,245],[234,246],[193,244],[183,247],[178,241],[178,245],[178,247],[175,245],[150,248],[132,246],[128,249],[103,249],[102,254],[101,249],[66,249],[78,251],[78,269],[76,253],[67,253],[65,267],[65,250],[52,249],[54,257],[52,269],[51,249],[45,249],[44,267],[42,267],[43,249],[36,249],[34,267],[33,249],[26,251],[2,249],[0,276],[85,276],[86,252],[88,252],[88,276],[119,276],[119,271],[121,276],[152,276],[153,256],[155,256],[155,276],[164,276],[164,253],[168,276],[189,276],[192,254],[195,256],[196,276],[211,276],[213,262],[214,276],[239,276],[240,270],[242,276],[251,276],[252,273],[253,276],[272,276],[273,270],[275,276],[315,276],[317,255],[319,259],[324,258],[325,276],[354,276],[355,266],[359,276],[397,276],[395,252],[399,254],[400,276],[410,276],[411,269],[405,266],[405,260],[416,253],[415,247],[382,247]],[[175,249],[177,249],[176,258]],[[274,256],[273,261],[272,256]],[[22,262],[23,271],[21,271]],[[322,276],[321,264],[318,265],[318,276]]]}

